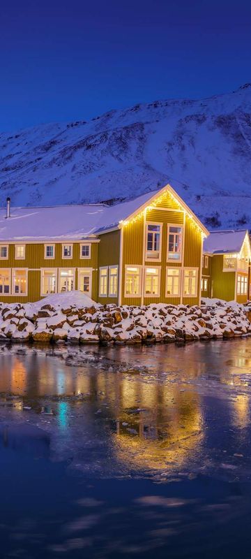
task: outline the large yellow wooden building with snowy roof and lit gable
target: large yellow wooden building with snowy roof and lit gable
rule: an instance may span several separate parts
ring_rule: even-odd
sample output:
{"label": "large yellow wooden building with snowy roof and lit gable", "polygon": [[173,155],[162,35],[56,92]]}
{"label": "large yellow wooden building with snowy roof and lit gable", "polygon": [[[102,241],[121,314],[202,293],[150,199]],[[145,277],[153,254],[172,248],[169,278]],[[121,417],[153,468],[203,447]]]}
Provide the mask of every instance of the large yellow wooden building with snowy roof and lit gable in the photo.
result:
{"label": "large yellow wooden building with snowy roof and lit gable", "polygon": [[166,187],[114,206],[0,210],[0,298],[80,289],[100,303],[198,304],[206,227]]}

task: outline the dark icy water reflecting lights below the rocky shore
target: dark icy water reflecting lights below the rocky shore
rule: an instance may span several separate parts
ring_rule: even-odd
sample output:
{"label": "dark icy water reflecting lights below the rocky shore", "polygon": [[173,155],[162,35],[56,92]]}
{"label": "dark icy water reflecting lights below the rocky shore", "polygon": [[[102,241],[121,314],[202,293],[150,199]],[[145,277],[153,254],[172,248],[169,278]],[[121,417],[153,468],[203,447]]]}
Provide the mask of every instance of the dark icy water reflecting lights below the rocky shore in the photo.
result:
{"label": "dark icy water reflecting lights below the rocky shore", "polygon": [[251,340],[0,347],[1,558],[251,557]]}

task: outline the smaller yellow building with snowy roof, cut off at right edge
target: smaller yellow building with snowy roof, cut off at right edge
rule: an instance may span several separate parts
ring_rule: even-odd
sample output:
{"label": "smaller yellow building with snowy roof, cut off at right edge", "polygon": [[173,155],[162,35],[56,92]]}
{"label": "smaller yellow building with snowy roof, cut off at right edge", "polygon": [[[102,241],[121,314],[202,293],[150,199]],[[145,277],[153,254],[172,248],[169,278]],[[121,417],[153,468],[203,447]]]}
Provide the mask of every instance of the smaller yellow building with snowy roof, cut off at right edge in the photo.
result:
{"label": "smaller yellow building with snowy roof, cut off at right edge", "polygon": [[210,233],[204,241],[201,296],[246,303],[250,298],[250,258],[246,229]]}

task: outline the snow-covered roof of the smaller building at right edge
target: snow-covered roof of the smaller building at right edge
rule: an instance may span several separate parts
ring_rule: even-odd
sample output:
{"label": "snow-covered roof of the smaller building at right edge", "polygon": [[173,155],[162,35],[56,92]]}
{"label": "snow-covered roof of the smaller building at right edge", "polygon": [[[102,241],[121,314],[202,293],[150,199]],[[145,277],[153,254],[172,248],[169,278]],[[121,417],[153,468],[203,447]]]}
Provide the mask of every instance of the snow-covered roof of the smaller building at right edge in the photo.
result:
{"label": "snow-covered roof of the smaller building at right edge", "polygon": [[246,229],[238,231],[212,231],[208,238],[204,240],[204,252],[210,254],[236,253],[241,251]]}

